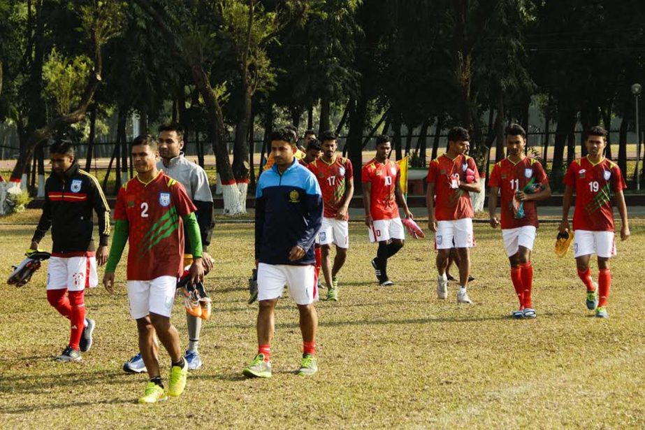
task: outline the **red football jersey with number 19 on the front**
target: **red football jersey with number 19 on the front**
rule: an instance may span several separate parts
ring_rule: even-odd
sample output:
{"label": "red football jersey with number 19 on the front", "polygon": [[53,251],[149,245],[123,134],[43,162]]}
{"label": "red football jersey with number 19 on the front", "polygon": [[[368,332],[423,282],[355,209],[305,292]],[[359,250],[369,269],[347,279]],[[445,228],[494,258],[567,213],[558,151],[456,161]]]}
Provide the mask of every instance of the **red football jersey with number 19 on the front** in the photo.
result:
{"label": "red football jersey with number 19 on the front", "polygon": [[627,188],[618,164],[606,158],[598,164],[587,157],[577,159],[567,169],[565,185],[576,192],[574,230],[614,231],[611,191]]}

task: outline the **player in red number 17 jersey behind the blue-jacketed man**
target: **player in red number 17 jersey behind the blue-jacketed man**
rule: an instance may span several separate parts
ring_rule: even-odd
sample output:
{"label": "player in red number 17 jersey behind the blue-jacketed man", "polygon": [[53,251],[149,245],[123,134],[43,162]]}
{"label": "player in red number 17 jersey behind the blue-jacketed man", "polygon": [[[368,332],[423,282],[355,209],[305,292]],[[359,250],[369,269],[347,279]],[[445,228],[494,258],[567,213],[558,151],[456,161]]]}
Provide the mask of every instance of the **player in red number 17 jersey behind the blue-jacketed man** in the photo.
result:
{"label": "player in red number 17 jersey behind the blue-jacketed man", "polygon": [[[349,159],[336,155],[338,141],[333,131],[322,136],[323,154],[309,164],[322,190],[324,215],[318,233],[322,252],[322,271],[327,283],[327,300],[338,301],[338,272],[347,259],[349,248],[349,202],[354,195],[354,169]],[[336,245],[331,265],[331,244]]]}

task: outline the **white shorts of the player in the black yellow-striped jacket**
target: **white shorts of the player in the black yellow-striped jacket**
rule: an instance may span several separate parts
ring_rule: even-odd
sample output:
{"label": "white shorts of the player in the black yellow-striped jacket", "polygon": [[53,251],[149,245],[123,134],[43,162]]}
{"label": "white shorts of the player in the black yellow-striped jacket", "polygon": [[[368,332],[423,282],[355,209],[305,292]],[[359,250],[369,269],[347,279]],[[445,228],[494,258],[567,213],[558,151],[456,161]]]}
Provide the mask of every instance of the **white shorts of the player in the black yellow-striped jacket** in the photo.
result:
{"label": "white shorts of the player in the black yellow-striped jacket", "polygon": [[99,285],[96,257],[50,257],[47,264],[47,289],[81,291]]}

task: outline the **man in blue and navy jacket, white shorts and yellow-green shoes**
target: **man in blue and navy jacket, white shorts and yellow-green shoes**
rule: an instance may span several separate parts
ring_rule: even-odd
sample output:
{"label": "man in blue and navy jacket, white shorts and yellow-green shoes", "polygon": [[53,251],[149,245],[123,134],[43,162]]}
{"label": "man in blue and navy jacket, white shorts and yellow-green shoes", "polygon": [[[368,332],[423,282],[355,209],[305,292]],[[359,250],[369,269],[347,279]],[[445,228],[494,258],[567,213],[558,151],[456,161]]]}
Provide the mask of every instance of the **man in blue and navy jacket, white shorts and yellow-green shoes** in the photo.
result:
{"label": "man in blue and navy jacket, white shorts and yellow-green shoes", "polygon": [[271,134],[275,164],[258,181],[255,209],[255,258],[258,264],[258,353],[243,371],[247,377],[271,377],[274,309],[284,285],[298,305],[303,359],[298,375],[318,371],[315,358],[318,316],[314,273],[314,237],[323,203],[314,175],[293,155],[289,131]]}

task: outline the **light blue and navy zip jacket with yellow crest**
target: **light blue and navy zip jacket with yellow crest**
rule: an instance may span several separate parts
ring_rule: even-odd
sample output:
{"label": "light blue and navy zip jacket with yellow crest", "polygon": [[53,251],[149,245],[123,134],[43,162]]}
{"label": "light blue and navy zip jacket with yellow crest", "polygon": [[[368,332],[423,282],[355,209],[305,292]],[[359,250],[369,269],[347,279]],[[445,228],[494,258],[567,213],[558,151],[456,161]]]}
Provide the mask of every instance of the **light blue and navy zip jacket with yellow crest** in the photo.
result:
{"label": "light blue and navy zip jacket with yellow crest", "polygon": [[[265,264],[314,264],[314,238],[323,214],[314,174],[297,159],[282,175],[274,165],[260,176],[255,198],[255,258]],[[296,245],[305,257],[289,261]]]}

